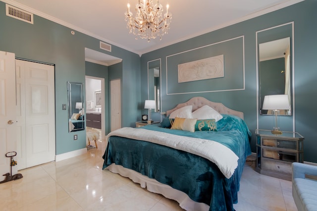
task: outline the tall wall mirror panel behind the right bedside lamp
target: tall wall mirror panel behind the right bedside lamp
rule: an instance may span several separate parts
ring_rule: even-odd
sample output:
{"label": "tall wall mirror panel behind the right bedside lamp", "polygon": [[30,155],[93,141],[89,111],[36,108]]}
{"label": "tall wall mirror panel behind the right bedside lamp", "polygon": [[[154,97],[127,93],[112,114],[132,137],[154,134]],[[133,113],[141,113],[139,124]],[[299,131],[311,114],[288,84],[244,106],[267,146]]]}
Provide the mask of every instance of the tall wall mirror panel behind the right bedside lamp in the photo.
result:
{"label": "tall wall mirror panel behind the right bedside lamp", "polygon": [[264,110],[266,95],[286,94],[290,108],[279,110],[278,115],[292,115],[294,61],[293,23],[257,32],[258,87],[261,115],[275,115],[273,110]]}

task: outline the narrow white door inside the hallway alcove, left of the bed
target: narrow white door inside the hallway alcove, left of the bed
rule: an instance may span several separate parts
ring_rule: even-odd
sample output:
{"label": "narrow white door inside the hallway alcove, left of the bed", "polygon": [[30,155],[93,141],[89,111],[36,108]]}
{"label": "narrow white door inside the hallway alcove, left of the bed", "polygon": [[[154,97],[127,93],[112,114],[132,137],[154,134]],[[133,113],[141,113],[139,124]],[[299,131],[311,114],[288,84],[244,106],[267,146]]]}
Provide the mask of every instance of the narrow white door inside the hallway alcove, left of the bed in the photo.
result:
{"label": "narrow white door inside the hallway alcove, left of the bed", "polygon": [[121,128],[121,82],[110,81],[111,131]]}

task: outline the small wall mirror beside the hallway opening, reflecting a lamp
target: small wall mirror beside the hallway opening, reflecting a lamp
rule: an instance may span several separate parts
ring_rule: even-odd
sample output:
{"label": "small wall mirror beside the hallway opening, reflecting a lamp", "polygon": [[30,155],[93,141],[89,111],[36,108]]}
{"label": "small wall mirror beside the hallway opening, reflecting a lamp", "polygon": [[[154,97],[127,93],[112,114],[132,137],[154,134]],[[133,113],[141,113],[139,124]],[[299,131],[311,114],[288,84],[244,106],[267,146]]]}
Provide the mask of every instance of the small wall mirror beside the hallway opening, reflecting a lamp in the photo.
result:
{"label": "small wall mirror beside the hallway opening, reflecting a lamp", "polygon": [[68,95],[68,131],[85,129],[84,85],[67,82]]}

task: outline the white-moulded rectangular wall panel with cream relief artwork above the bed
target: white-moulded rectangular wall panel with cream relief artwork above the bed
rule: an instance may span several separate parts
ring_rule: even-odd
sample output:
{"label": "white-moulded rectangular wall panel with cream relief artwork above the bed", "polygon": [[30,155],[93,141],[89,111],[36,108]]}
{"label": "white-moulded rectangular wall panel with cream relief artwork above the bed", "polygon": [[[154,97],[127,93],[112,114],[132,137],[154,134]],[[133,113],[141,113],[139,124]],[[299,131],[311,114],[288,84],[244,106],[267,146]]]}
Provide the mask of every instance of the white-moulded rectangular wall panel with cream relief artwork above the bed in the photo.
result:
{"label": "white-moulded rectangular wall panel with cream relief artwork above the bed", "polygon": [[244,51],[241,36],[166,56],[166,95],[244,90]]}

